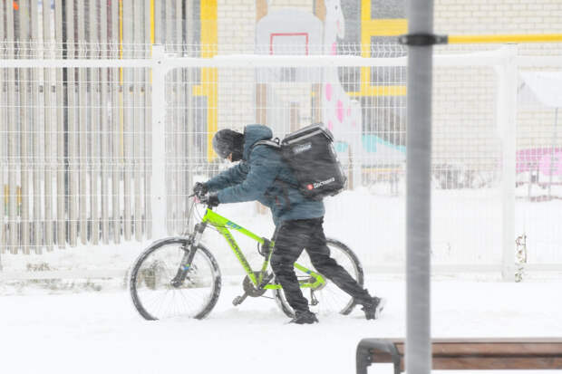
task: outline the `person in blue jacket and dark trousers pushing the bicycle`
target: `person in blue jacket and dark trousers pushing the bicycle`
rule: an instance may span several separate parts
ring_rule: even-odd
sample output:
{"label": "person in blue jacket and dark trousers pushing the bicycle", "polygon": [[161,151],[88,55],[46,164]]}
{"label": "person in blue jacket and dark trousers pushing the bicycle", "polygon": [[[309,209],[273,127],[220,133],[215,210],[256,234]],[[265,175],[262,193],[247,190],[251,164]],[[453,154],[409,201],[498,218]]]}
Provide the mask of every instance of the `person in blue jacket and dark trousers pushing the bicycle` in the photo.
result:
{"label": "person in blue jacket and dark trousers pushing the bicycle", "polygon": [[[371,296],[330,256],[323,228],[324,203],[321,199],[305,197],[297,187],[294,169],[276,147],[264,142],[272,136],[271,129],[263,125],[247,125],[244,133],[219,130],[213,138],[215,152],[220,158],[241,162],[205,183],[196,183],[193,188],[195,194],[209,206],[257,200],[271,209],[276,225],[271,267],[277,282],[283,287],[287,302],[295,311],[291,322],[304,324],[318,321],[315,313],[308,308],[293,266],[304,249],[319,273],[363,306],[367,320],[378,318],[384,299]],[[301,149],[306,150],[306,145]],[[329,178],[325,183],[331,181]],[[311,184],[308,189],[322,184]]]}

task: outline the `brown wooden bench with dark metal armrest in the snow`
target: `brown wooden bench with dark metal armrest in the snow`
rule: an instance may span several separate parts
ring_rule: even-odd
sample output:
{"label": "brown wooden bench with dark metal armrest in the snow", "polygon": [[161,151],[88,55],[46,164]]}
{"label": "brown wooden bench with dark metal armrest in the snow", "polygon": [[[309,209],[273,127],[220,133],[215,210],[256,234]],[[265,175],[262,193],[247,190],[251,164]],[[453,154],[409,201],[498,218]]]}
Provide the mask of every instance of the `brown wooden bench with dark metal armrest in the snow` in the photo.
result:
{"label": "brown wooden bench with dark metal armrest in the snow", "polygon": [[[434,339],[432,369],[562,369],[562,339]],[[363,339],[357,346],[357,374],[372,363],[393,363],[404,371],[403,339]]]}

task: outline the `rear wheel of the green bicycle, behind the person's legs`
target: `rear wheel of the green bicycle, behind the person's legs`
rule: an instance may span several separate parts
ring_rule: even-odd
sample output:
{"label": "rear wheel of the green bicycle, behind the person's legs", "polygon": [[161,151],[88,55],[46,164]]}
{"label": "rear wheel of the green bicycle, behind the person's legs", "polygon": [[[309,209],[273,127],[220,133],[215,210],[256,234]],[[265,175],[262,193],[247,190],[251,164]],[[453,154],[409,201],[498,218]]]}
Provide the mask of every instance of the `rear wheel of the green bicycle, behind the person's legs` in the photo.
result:
{"label": "rear wheel of the green bicycle, behind the person's legs", "polygon": [[[326,239],[326,242],[326,245],[330,248],[330,256],[334,258],[338,264],[343,266],[347,273],[350,273],[359,285],[363,286],[363,267],[354,252],[347,245],[337,240]],[[304,265],[308,269],[314,270],[306,251],[303,251],[303,254],[301,254],[296,262]],[[296,270],[296,277],[299,281],[310,279],[310,275],[301,273],[298,270]],[[307,288],[301,289],[303,296],[308,300],[310,311],[320,315],[335,313],[349,314],[352,312],[355,306],[354,298],[327,278],[325,278],[325,282],[325,285],[315,291],[311,291]],[[294,317],[295,312],[286,301],[283,290],[275,290],[274,296],[279,308],[288,317]]]}

